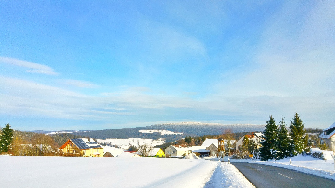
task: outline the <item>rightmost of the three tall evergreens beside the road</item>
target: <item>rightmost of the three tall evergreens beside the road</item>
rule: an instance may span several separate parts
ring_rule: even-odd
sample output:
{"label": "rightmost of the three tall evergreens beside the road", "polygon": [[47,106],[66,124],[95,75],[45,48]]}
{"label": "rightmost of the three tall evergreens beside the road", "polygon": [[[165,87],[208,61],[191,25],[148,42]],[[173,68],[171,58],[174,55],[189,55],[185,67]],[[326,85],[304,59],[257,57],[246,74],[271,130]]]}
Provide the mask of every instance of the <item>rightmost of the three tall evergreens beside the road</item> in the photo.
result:
{"label": "rightmost of the three tall evergreens beside the road", "polygon": [[296,112],[290,123],[291,137],[294,144],[294,155],[301,154],[305,151],[307,146],[308,137],[304,130],[303,120],[300,119],[299,114]]}

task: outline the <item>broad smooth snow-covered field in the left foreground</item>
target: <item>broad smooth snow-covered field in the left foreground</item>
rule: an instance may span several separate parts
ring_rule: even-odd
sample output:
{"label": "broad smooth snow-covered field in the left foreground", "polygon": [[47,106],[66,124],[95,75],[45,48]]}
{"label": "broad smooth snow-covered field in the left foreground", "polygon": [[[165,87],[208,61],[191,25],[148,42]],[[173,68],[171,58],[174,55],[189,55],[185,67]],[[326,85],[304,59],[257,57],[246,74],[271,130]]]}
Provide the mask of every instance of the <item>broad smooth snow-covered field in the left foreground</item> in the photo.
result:
{"label": "broad smooth snow-covered field in the left foreground", "polygon": [[[198,159],[0,156],[1,187],[201,188],[218,162]],[[199,173],[200,172],[200,173]]]}

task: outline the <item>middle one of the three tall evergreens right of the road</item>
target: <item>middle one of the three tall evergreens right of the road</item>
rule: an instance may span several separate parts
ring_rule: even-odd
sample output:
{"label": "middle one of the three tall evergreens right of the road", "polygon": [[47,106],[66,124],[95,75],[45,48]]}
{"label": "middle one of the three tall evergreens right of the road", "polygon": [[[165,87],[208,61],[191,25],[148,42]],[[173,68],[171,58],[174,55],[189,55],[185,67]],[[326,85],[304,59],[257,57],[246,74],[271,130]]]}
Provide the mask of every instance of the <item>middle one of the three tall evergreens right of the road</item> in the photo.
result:
{"label": "middle one of the three tall evergreens right of the road", "polygon": [[276,142],[276,160],[280,160],[286,157],[291,157],[294,151],[294,147],[291,141],[291,138],[288,134],[287,129],[285,128],[286,123],[284,118],[281,117],[281,121],[279,123],[279,132],[278,132],[278,141]]}

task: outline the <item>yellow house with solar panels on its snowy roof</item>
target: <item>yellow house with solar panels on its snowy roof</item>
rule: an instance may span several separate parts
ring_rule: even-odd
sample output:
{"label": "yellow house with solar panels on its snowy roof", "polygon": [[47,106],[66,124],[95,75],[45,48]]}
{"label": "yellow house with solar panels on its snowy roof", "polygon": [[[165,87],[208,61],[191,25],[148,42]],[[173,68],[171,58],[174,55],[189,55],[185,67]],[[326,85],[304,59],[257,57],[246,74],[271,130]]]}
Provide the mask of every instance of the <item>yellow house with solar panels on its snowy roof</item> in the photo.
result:
{"label": "yellow house with solar panels on its snowy roof", "polygon": [[103,157],[102,148],[93,139],[70,139],[59,148],[64,156]]}

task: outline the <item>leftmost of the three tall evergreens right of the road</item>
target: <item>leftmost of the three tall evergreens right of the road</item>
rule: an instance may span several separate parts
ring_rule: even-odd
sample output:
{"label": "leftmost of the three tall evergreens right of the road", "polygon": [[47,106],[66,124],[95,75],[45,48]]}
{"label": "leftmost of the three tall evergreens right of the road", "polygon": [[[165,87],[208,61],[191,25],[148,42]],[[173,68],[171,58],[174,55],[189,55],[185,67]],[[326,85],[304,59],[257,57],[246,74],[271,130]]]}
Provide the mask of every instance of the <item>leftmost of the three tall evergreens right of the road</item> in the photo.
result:
{"label": "leftmost of the three tall evergreens right of the road", "polygon": [[276,121],[270,116],[270,119],[266,122],[265,129],[263,131],[264,140],[261,141],[259,158],[262,161],[272,160],[275,158],[276,153],[276,142],[278,141],[278,126]]}

